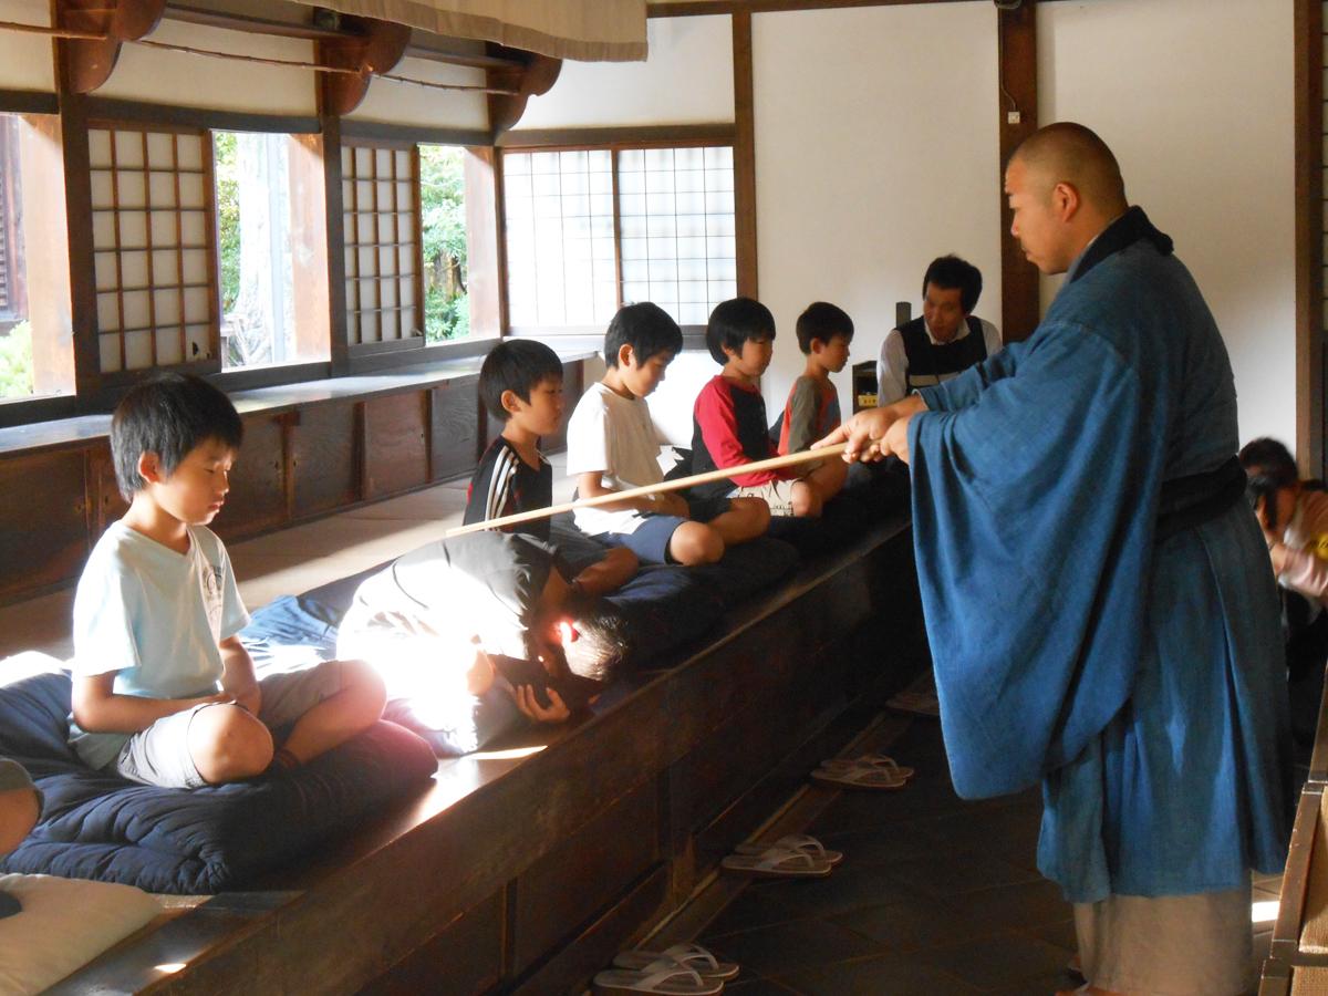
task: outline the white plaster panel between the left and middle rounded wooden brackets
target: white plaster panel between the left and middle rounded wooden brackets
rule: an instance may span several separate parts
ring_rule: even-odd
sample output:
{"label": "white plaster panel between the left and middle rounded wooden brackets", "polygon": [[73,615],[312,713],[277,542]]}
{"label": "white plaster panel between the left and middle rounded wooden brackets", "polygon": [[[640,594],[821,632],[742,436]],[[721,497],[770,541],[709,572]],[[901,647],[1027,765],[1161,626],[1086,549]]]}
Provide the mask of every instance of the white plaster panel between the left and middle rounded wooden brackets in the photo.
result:
{"label": "white plaster panel between the left and middle rounded wooden brackets", "polygon": [[[313,61],[313,42],[163,20],[149,41],[297,62]],[[309,69],[126,44],[98,97],[264,114],[317,114]]]}

